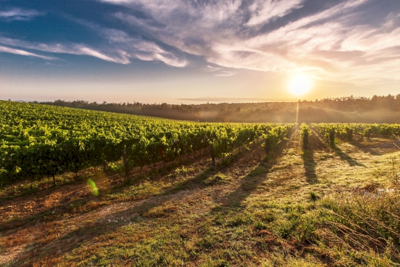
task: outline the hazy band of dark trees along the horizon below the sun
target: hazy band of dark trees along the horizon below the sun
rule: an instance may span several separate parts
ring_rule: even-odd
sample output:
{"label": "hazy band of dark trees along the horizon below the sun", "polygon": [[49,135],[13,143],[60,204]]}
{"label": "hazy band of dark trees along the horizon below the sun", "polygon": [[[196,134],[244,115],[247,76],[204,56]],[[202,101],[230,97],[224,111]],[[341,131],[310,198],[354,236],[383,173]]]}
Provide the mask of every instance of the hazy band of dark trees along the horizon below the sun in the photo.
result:
{"label": "hazy band of dark trees along the horizon below the sun", "polygon": [[[298,102],[145,104],[59,99],[40,104],[200,122],[295,122]],[[400,94],[299,102],[299,122],[398,123],[399,118]]]}

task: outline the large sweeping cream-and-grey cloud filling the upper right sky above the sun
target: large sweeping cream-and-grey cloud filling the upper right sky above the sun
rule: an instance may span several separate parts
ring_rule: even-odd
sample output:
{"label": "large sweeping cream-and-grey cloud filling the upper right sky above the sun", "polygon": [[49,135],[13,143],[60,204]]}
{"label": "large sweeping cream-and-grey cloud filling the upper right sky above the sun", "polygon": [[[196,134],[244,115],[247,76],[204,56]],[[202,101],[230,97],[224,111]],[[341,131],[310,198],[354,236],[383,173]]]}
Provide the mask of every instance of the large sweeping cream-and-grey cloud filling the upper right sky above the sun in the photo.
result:
{"label": "large sweeping cream-and-grey cloud filling the upper right sky above the sun", "polygon": [[351,83],[393,80],[400,72],[395,49],[400,46],[399,14],[381,24],[358,22],[365,16],[360,10],[372,0],[326,2],[292,17],[312,1],[101,1],[140,10],[140,17],[121,11],[115,17],[221,67],[303,71],[316,79]]}

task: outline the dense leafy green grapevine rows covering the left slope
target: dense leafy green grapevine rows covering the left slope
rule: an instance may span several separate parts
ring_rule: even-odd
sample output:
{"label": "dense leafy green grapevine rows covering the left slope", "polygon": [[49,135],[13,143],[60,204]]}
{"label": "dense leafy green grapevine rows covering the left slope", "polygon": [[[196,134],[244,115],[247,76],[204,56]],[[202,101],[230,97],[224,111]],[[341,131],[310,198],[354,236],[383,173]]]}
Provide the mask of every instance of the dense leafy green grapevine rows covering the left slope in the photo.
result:
{"label": "dense leafy green grapevine rows covering the left slope", "polygon": [[39,104],[0,102],[0,183],[40,179],[124,162],[133,168],[192,153],[215,159],[264,140],[267,154],[293,124],[223,124],[161,120]]}

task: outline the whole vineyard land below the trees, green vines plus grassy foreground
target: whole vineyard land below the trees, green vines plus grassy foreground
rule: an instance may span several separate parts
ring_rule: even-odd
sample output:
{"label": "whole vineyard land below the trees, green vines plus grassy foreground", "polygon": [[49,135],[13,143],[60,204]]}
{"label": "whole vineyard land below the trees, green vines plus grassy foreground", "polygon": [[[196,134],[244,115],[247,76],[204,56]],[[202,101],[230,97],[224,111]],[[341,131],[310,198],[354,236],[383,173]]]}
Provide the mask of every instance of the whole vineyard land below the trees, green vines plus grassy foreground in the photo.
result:
{"label": "whole vineyard land below the trees, green vines plus grassy foreground", "polygon": [[0,102],[0,265],[399,266],[399,136]]}

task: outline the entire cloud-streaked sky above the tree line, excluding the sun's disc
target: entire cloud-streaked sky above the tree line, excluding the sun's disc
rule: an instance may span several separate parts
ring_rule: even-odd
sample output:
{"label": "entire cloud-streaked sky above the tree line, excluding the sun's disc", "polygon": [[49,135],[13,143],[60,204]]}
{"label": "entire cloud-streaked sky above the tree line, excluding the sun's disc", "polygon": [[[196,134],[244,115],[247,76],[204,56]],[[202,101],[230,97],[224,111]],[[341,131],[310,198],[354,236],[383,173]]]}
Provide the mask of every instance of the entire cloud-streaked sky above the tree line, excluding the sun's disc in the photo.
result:
{"label": "entire cloud-streaked sky above the tree line, excluding the sun's disc", "polygon": [[0,99],[294,101],[399,79],[400,0],[0,0]]}

